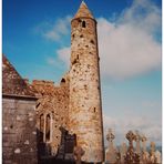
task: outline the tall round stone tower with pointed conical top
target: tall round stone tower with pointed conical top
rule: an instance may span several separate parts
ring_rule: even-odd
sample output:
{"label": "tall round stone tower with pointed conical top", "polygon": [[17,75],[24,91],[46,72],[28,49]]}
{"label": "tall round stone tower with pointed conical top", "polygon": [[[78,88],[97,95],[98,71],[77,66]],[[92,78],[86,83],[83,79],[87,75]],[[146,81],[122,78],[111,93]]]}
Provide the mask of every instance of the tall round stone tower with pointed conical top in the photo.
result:
{"label": "tall round stone tower with pointed conical top", "polygon": [[71,21],[69,127],[84,150],[82,161],[102,162],[103,123],[96,21],[82,1]]}

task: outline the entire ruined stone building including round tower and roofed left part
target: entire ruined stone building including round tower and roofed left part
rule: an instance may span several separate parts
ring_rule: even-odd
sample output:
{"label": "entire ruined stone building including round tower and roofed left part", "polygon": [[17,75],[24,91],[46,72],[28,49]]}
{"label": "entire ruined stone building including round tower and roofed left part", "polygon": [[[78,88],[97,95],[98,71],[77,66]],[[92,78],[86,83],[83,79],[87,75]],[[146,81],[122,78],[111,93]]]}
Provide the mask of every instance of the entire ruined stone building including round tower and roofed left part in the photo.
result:
{"label": "entire ruined stone building including round tower and roofed left part", "polygon": [[4,163],[69,160],[75,146],[84,151],[83,162],[103,162],[99,59],[96,20],[84,2],[71,21],[71,68],[60,85],[29,83],[3,55]]}

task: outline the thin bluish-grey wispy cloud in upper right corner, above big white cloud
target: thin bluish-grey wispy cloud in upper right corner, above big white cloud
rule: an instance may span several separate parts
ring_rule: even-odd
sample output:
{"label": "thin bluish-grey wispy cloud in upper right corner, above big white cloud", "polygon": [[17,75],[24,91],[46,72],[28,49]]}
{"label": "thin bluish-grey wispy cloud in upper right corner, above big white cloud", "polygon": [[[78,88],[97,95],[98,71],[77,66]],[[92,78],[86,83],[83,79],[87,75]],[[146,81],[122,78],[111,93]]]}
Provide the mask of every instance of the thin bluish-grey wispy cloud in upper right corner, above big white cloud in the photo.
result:
{"label": "thin bluish-grey wispy cloud in upper right corner, above big white cloud", "polygon": [[161,29],[161,9],[151,0],[134,0],[132,7],[124,10],[120,19],[142,28],[145,32],[157,32]]}

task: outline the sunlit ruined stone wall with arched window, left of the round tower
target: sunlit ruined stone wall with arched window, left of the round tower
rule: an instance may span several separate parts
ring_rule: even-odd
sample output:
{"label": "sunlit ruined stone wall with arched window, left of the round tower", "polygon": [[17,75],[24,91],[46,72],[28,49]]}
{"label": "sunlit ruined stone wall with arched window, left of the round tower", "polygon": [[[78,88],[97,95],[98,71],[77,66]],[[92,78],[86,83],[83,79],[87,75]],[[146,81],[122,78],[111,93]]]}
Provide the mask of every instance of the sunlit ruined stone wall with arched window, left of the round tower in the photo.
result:
{"label": "sunlit ruined stone wall with arched window, left of the round tower", "polygon": [[[45,124],[41,123],[50,114],[50,141],[44,139],[41,141],[49,144],[51,147],[51,155],[55,155],[61,142],[60,126],[66,129],[68,126],[68,111],[69,111],[69,88],[68,80],[62,79],[61,85],[55,86],[52,81],[32,82],[32,88],[37,91],[39,98],[37,103],[37,127],[41,133],[45,132]],[[43,121],[44,122],[44,121]],[[44,125],[43,125],[44,124]]]}

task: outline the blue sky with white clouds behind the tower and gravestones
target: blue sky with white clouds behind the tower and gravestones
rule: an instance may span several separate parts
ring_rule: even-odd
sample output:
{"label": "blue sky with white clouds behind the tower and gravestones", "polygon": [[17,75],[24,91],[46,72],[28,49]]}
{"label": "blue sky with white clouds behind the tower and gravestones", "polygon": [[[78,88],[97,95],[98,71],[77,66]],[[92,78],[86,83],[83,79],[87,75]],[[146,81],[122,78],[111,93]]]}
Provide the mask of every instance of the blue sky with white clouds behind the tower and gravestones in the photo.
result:
{"label": "blue sky with white clouds behind the tower and gravestones", "polygon": [[[70,69],[70,21],[80,0],[3,0],[2,51],[30,81]],[[85,0],[98,21],[104,134],[162,143],[162,1]],[[105,142],[106,143],[106,142]]]}

